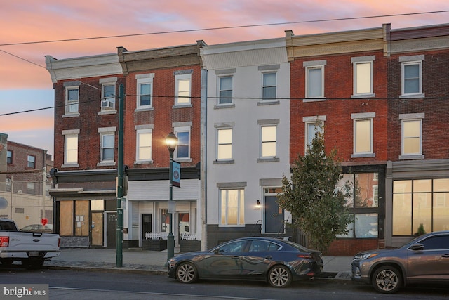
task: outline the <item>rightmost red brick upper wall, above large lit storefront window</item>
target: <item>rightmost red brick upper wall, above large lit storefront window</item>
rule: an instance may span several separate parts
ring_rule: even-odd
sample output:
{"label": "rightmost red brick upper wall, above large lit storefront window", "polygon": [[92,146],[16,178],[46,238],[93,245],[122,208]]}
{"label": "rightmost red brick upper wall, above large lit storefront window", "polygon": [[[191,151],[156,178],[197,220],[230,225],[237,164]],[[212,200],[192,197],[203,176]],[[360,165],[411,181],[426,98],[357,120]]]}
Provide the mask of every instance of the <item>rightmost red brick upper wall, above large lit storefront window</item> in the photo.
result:
{"label": "rightmost red brick upper wall, above large lit storefront window", "polygon": [[[424,54],[422,92],[425,98],[400,99],[401,62],[399,56]],[[422,154],[425,159],[448,159],[449,50],[403,53],[389,58],[389,127],[388,159],[401,155],[401,120],[399,114],[424,113],[422,119]]]}

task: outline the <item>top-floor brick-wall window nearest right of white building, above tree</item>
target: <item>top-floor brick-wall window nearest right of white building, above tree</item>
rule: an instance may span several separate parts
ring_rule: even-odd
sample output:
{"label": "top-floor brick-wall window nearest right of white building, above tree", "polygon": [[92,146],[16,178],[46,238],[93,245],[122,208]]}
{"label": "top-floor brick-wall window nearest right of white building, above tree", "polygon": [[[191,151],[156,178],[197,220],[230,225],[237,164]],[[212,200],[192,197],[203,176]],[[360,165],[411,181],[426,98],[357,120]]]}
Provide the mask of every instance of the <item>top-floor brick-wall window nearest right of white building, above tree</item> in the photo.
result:
{"label": "top-floor brick-wall window nearest right of white building, above tree", "polygon": [[306,98],[324,98],[324,66],[326,60],[304,62],[306,69]]}

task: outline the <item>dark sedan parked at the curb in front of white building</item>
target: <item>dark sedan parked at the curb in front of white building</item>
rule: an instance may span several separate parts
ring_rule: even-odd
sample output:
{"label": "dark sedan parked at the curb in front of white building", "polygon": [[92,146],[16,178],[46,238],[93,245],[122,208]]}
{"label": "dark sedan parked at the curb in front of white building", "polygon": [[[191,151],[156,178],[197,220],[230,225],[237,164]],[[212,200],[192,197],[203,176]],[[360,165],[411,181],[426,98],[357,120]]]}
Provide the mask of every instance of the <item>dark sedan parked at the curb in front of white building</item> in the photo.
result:
{"label": "dark sedan parked at the curb in front of white building", "polygon": [[323,270],[321,252],[270,237],[242,237],[205,252],[189,252],[168,261],[168,276],[183,283],[198,279],[262,280],[287,287]]}

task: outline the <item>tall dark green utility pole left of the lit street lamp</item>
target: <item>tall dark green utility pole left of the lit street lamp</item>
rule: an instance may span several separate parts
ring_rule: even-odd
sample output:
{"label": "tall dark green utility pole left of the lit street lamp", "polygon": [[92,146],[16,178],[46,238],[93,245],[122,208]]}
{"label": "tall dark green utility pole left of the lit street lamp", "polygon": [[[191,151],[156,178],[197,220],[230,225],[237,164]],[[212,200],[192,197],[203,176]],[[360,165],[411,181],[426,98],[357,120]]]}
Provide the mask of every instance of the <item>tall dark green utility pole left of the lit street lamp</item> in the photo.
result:
{"label": "tall dark green utility pole left of the lit street lamp", "polygon": [[123,198],[123,119],[124,119],[124,87],[119,86],[119,162],[117,166],[117,241],[116,241],[116,266],[123,266],[123,208],[121,200]]}

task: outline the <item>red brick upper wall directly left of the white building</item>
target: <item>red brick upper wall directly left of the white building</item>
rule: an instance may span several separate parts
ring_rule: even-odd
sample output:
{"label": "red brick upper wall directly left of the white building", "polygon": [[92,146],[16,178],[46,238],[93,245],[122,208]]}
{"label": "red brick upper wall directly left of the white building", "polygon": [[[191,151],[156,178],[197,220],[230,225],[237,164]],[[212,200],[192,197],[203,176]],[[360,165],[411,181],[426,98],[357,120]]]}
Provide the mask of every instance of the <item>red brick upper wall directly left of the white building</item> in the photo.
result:
{"label": "red brick upper wall directly left of the white building", "polygon": [[[175,104],[175,75],[178,70],[193,70],[192,73],[192,107],[174,108]],[[135,112],[137,105],[137,80],[136,74],[154,73],[153,79],[153,107],[154,110]],[[126,148],[124,162],[134,168],[161,168],[168,167],[169,153],[165,138],[173,131],[173,122],[192,122],[190,157],[192,162],[182,162],[182,167],[193,167],[200,161],[200,122],[201,122],[201,68],[199,65],[182,68],[168,68],[162,70],[146,70],[145,72],[132,73],[126,80],[126,117],[125,138]],[[136,134],[135,125],[153,124],[152,131],[152,159],[153,164],[136,164]]]}

